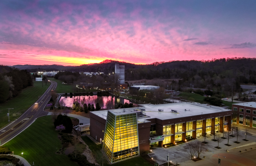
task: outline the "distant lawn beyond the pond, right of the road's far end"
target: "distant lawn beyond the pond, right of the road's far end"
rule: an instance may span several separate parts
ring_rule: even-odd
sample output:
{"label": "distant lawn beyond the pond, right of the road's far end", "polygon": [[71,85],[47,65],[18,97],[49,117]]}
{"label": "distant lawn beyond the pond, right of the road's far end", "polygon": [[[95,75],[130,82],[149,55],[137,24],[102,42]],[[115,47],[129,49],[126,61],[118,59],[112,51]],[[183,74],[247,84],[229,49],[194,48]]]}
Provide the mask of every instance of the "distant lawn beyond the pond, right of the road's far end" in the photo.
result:
{"label": "distant lawn beyond the pond, right of the road's far end", "polygon": [[[75,85],[62,84],[61,80],[58,80],[55,78],[48,78],[48,79],[57,82],[56,93],[83,92],[82,89],[76,88]],[[98,91],[98,90],[97,89],[90,89],[90,91],[89,91],[89,89],[84,90],[84,92],[95,92],[95,91]]]}

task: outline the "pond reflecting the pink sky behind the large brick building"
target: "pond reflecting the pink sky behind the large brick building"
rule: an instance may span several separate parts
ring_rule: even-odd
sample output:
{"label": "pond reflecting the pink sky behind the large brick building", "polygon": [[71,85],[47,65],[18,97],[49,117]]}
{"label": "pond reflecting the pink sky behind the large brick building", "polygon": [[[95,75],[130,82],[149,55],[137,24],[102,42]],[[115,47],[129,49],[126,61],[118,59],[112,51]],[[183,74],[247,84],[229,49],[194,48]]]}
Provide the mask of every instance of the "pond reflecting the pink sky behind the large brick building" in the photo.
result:
{"label": "pond reflecting the pink sky behind the large brick building", "polygon": [[94,107],[96,103],[99,103],[100,107],[102,109],[114,109],[119,103],[133,103],[133,106],[136,107],[137,104],[135,102],[124,99],[124,98],[118,98],[115,96],[98,96],[98,95],[92,95],[92,96],[62,96],[59,101],[60,105],[72,107],[73,103],[80,103],[82,106],[83,104],[94,104]]}

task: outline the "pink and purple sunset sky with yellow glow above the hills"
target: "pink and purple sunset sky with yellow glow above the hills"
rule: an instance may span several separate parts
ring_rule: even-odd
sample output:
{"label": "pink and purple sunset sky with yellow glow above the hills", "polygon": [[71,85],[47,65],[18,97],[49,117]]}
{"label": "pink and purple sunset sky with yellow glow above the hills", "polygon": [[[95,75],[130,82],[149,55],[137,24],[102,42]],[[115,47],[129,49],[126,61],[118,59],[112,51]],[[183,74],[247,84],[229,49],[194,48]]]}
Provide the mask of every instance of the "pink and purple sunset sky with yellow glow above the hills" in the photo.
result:
{"label": "pink and purple sunset sky with yellow glow above the hills", "polygon": [[0,64],[256,57],[256,1],[0,1]]}

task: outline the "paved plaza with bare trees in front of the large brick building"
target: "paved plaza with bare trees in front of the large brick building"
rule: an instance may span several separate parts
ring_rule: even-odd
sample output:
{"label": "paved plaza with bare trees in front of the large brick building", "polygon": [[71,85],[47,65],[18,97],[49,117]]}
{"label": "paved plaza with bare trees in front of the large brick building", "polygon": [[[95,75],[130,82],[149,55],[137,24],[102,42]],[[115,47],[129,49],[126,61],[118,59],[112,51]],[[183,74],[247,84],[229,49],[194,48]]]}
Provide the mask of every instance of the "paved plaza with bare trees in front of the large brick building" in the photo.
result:
{"label": "paved plaza with bare trees in front of the large brick building", "polygon": [[[244,127],[242,126],[239,126],[239,128],[241,130],[244,130]],[[218,134],[220,134],[221,137],[223,136],[223,133],[218,133]],[[233,132],[233,135],[235,135],[234,132]],[[205,139],[204,137],[197,138],[197,140],[199,140],[200,142],[203,142],[204,139]],[[169,148],[152,147],[152,153],[149,153],[148,155],[151,158],[153,158],[154,161],[158,162],[159,165],[167,162],[167,156],[169,153],[169,161],[172,161],[172,163],[180,163],[180,165],[184,165],[184,166],[218,165],[218,157],[221,159],[221,165],[256,166],[256,142],[255,142],[256,130],[255,129],[250,129],[250,134],[248,134],[246,138],[249,141],[243,140],[245,139],[245,135],[243,133],[242,136],[238,138],[238,142],[240,142],[240,144],[234,143],[234,141],[237,141],[237,137],[232,137],[231,139],[229,139],[229,145],[231,146],[226,146],[225,144],[227,144],[228,140],[223,139],[223,141],[219,143],[219,147],[221,149],[215,148],[218,146],[218,142],[212,141],[212,139],[214,139],[213,135],[206,138],[206,142],[208,144],[205,144],[205,146],[208,149],[208,151],[201,153],[199,158],[201,158],[202,160],[199,160],[196,162],[191,160],[191,157],[189,156],[186,149],[184,148],[186,143],[179,144]],[[192,140],[192,141],[195,141],[195,140]],[[197,158],[198,154],[195,153],[194,156]],[[223,156],[225,156],[226,158],[224,158]]]}

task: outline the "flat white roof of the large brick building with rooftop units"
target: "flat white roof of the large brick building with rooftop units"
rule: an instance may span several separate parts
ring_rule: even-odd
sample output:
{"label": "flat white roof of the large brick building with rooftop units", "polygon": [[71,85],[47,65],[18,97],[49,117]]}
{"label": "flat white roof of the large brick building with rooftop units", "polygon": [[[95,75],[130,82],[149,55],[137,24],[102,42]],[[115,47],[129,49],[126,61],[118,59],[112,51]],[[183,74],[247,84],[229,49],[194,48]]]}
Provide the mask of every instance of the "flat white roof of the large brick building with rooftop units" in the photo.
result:
{"label": "flat white roof of the large brick building with rooftop units", "polygon": [[[145,113],[145,117],[138,118],[138,122],[144,122],[147,119],[158,118],[161,120],[174,119],[174,118],[182,118],[189,117],[201,114],[210,114],[217,112],[230,111],[230,109],[226,109],[223,107],[208,105],[208,104],[195,104],[188,102],[181,103],[168,103],[168,104],[141,104],[141,107],[133,107],[127,109],[113,109],[111,112],[119,113],[132,113],[133,111],[140,111],[144,109],[143,113]],[[162,109],[162,111],[158,111],[158,109]],[[185,109],[187,111],[185,111]],[[173,112],[172,110],[176,110]],[[104,119],[107,117],[108,110],[103,111],[93,111],[91,113],[100,116]],[[147,117],[150,116],[150,117]]]}

